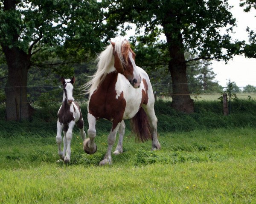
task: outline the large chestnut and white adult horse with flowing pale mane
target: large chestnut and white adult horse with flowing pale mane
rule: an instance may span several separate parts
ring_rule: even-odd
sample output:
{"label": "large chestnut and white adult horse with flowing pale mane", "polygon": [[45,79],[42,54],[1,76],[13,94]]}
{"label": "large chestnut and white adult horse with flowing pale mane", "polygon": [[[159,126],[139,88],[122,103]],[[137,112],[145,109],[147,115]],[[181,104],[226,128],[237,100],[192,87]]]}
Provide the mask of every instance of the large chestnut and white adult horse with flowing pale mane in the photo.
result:
{"label": "large chestnut and white adult horse with flowing pale mane", "polygon": [[100,165],[112,164],[111,150],[119,131],[114,154],[122,153],[125,133],[123,119],[132,119],[135,136],[141,142],[152,139],[152,149],[160,149],[157,139],[157,117],[154,113],[154,94],[148,74],[135,64],[135,54],[127,40],[111,42],[99,55],[98,69],[84,85],[88,101],[88,136],[84,151],[93,154],[96,121],[104,118],[112,122],[108,135],[108,150]]}

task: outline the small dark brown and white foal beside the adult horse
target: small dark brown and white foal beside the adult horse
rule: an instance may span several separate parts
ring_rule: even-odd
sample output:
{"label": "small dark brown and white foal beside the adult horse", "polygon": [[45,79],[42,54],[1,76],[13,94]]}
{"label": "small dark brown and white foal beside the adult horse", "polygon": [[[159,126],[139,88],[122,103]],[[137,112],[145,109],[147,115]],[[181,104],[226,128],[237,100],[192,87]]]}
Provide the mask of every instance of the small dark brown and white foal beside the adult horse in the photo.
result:
{"label": "small dark brown and white foal beside the adult horse", "polygon": [[[63,85],[64,93],[61,108],[58,111],[57,122],[57,136],[56,142],[58,144],[58,155],[60,160],[70,162],[70,144],[72,139],[72,130],[76,126],[80,129],[80,136],[85,140],[86,134],[84,132],[84,120],[81,113],[79,104],[74,101],[73,98],[73,83],[75,83],[75,77],[72,79],[64,79],[61,77],[61,83]],[[61,151],[61,131],[63,130],[63,152]]]}

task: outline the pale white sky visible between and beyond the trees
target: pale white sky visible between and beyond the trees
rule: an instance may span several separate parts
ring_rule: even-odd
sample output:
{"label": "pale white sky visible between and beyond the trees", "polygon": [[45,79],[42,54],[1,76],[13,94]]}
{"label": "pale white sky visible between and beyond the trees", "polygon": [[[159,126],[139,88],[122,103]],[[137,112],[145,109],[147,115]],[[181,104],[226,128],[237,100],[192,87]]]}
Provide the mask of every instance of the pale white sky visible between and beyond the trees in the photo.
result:
{"label": "pale white sky visible between and beyond the trees", "polygon": [[[233,40],[245,40],[248,42],[248,33],[246,32],[247,26],[256,30],[256,10],[251,9],[250,12],[245,13],[243,8],[239,6],[240,0],[228,0],[233,17],[237,20],[237,27],[233,29]],[[126,39],[133,36],[135,29],[127,31]],[[163,37],[165,38],[165,37]],[[212,71],[216,74],[215,80],[219,85],[226,86],[230,79],[231,82],[236,82],[239,87],[246,85],[256,86],[256,59],[246,58],[244,56],[235,56],[233,59],[225,64],[224,61],[212,61]]]}

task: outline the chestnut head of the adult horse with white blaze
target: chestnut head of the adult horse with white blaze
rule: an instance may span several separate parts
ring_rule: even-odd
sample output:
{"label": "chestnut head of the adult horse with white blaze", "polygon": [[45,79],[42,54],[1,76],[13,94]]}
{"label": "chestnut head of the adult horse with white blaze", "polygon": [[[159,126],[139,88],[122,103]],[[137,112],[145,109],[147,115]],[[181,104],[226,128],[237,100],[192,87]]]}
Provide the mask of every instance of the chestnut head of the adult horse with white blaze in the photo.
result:
{"label": "chestnut head of the adult horse with white blaze", "polygon": [[116,71],[123,74],[134,88],[140,87],[141,77],[135,64],[135,54],[127,40],[111,42]]}

